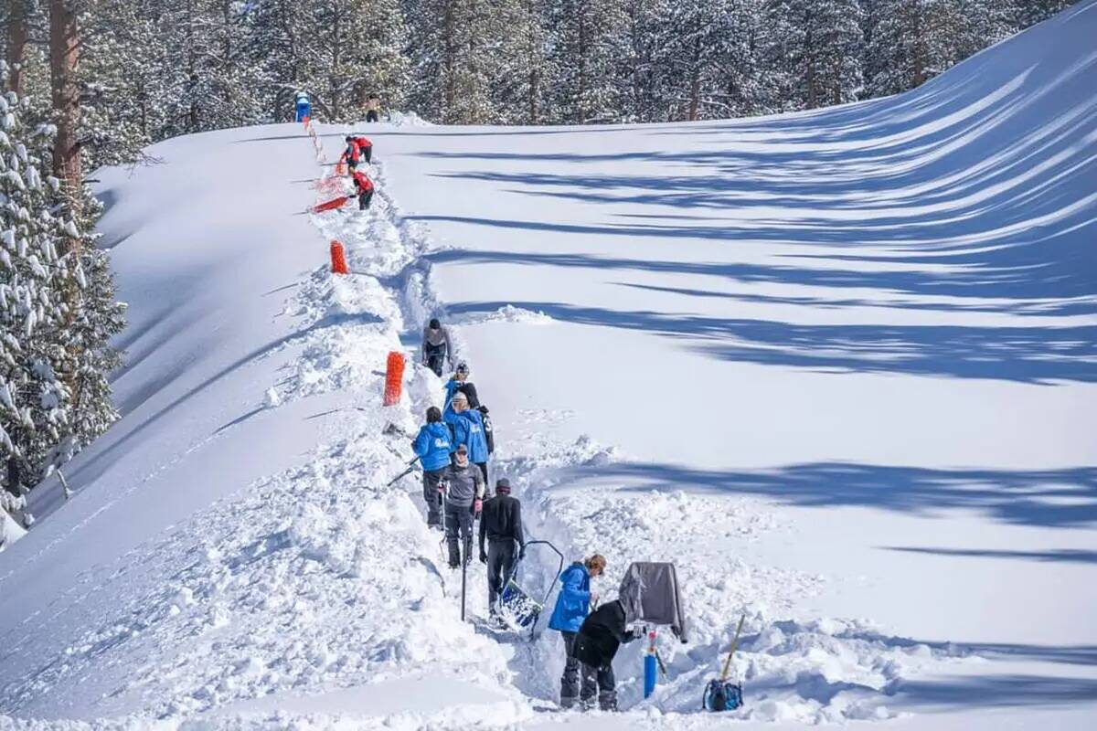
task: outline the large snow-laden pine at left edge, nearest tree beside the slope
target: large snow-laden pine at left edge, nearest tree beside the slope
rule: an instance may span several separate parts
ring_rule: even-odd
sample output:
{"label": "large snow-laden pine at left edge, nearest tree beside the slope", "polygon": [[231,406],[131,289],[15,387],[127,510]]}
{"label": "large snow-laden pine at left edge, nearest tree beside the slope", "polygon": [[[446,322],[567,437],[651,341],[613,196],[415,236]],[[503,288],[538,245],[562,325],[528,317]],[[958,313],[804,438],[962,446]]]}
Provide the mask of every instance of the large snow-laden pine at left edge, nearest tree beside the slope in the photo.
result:
{"label": "large snow-laden pine at left edge, nearest tree beside the slope", "polygon": [[[0,457],[34,484],[117,418],[108,382],[123,306],[90,233],[99,204],[49,174],[56,128],[0,100]],[[10,481],[11,478],[9,478]]]}

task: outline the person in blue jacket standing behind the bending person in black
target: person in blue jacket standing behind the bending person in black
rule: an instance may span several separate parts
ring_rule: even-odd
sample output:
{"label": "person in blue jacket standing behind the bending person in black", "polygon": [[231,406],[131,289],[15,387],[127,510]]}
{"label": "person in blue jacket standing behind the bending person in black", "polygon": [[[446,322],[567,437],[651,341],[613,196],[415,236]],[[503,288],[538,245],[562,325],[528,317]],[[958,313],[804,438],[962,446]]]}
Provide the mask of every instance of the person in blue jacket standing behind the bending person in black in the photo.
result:
{"label": "person in blue jacket standing behind the bending person in black", "polygon": [[[556,595],[556,606],[548,618],[548,629],[564,637],[564,675],[559,678],[561,708],[570,708],[579,698],[579,660],[575,656],[575,638],[598,594],[590,591],[590,580],[606,571],[606,558],[595,553],[583,562],[576,561],[559,574],[562,584]],[[588,676],[589,675],[589,676]],[[583,698],[590,700],[598,693],[595,675],[583,674]]]}

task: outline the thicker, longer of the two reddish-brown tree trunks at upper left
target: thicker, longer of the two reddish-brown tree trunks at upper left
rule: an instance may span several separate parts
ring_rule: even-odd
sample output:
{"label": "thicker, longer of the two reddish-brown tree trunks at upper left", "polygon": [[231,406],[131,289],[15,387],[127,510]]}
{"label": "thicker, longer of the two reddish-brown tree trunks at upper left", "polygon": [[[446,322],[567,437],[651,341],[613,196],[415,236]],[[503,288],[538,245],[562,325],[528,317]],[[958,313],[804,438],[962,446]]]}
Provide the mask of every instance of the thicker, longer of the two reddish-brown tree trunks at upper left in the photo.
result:
{"label": "thicker, longer of the two reddish-brown tree trunks at upper left", "polygon": [[[80,169],[80,33],[76,0],[49,0],[49,81],[53,90],[57,137],[54,139],[54,172],[79,202],[83,174]],[[78,204],[76,204],[78,205]]]}

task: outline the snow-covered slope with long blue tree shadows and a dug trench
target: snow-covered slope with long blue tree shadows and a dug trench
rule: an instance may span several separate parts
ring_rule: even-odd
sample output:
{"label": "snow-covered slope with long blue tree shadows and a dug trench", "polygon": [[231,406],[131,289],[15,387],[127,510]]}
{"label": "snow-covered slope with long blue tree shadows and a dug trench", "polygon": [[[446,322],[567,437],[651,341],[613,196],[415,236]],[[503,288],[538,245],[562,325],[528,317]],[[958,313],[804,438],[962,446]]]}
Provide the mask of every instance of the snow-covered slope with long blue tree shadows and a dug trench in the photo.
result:
{"label": "snow-covered slope with long blue tree shadows and a dug trench", "polygon": [[[0,553],[0,729],[1092,728],[1094,37],[1084,1],[780,117],[377,125],[367,213],[304,213],[349,127],[102,171],[124,416]],[[380,369],[431,315],[531,532],[604,553],[603,599],[676,561],[652,699],[634,643],[623,712],[552,712],[555,632],[460,621],[417,479],[386,486],[440,381],[384,409]],[[699,713],[740,612],[747,706]]]}

